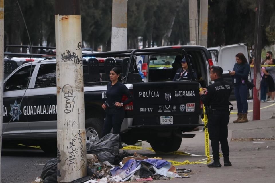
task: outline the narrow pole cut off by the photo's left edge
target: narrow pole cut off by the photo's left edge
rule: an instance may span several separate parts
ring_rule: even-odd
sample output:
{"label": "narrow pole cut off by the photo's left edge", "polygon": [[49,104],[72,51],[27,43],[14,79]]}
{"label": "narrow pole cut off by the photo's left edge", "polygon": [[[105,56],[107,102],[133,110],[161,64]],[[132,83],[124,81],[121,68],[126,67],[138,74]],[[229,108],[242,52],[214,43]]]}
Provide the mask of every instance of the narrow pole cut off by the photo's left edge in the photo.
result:
{"label": "narrow pole cut off by the photo's left edge", "polygon": [[[2,66],[1,66],[2,65]],[[3,106],[4,79],[4,0],[0,0],[0,106]],[[0,110],[0,134],[3,130],[3,110]],[[0,183],[1,183],[2,136],[0,137]]]}

